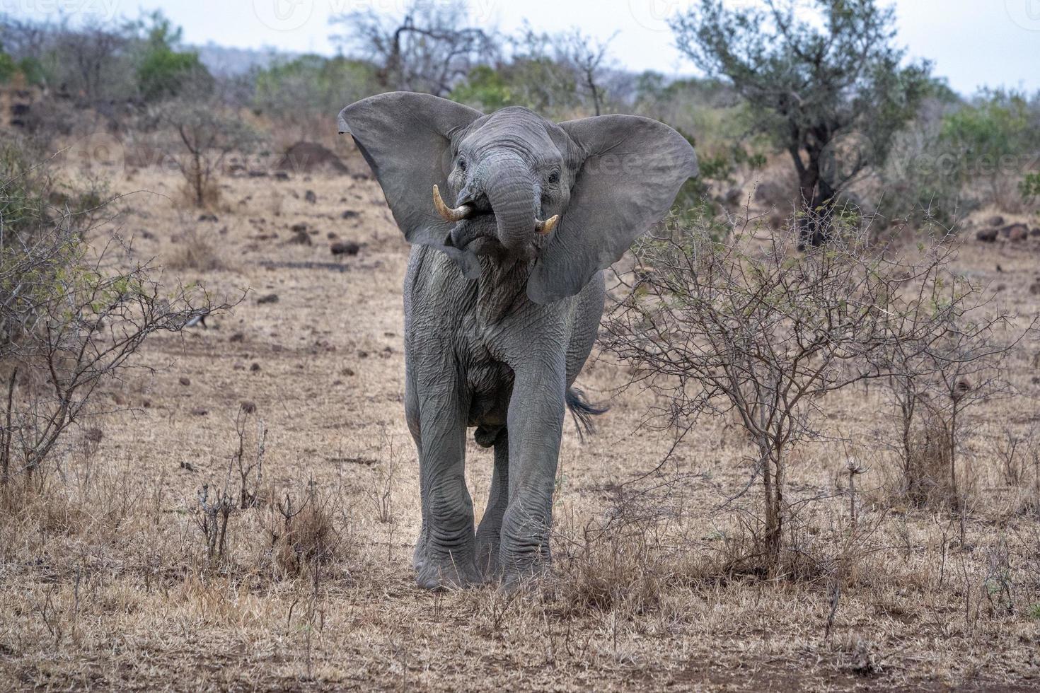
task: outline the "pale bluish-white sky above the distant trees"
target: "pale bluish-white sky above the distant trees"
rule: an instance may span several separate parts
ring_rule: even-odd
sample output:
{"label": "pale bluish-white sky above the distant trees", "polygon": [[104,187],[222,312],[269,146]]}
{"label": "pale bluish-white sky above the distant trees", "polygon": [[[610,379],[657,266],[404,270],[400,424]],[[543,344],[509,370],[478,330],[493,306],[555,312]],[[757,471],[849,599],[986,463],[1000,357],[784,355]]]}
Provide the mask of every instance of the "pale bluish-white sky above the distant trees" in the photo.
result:
{"label": "pale bluish-white sky above the distant trees", "polygon": [[[752,0],[731,0],[751,2]],[[628,70],[696,74],[674,47],[666,19],[691,0],[468,0],[467,24],[515,30],[526,19],[537,30],[571,26],[602,38]],[[335,52],[329,18],[358,8],[400,15],[408,0],[0,0],[0,11],[72,21],[135,17],[160,8],[184,27],[189,44],[275,47]],[[895,0],[898,41],[911,57],[930,58],[935,73],[969,95],[979,86],[1040,90],[1040,0]]]}

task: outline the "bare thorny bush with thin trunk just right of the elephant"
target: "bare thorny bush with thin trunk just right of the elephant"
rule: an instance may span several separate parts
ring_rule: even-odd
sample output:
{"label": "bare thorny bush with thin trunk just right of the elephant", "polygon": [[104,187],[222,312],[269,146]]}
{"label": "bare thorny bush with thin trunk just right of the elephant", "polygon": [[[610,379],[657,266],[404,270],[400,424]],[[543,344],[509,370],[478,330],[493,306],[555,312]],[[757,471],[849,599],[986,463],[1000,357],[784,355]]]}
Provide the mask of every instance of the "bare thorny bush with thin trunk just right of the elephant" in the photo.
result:
{"label": "bare thorny bush with thin trunk just right of the elephant", "polygon": [[749,487],[760,480],[764,496],[754,553],[770,574],[780,567],[791,513],[788,454],[800,442],[838,435],[816,428],[826,395],[887,377],[895,363],[961,392],[963,372],[942,367],[977,361],[944,346],[951,334],[986,334],[1002,320],[968,323],[979,293],[948,272],[950,238],[909,254],[873,248],[868,224],[849,216],[832,245],[801,257],[795,234],[747,220],[718,240],[706,223],[671,224],[636,244],[634,282],[603,340],[632,367],[633,384],[665,398],[657,414],[670,425],[688,430],[706,411],[734,415],[748,431]]}

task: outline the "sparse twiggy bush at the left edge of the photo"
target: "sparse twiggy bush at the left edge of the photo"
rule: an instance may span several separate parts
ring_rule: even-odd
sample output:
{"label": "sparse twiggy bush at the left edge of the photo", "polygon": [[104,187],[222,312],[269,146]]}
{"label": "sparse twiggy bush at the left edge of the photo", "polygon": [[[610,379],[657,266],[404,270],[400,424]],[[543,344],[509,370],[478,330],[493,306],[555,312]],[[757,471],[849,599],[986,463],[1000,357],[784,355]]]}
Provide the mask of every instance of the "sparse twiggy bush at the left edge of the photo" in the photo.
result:
{"label": "sparse twiggy bush at the left edge of the photo", "polygon": [[200,290],[161,286],[155,267],[118,237],[88,242],[104,201],[82,211],[51,205],[55,183],[41,172],[45,164],[19,156],[7,151],[0,179],[4,484],[19,473],[30,481],[62,433],[88,416],[99,388],[133,367],[149,336],[227,308]]}

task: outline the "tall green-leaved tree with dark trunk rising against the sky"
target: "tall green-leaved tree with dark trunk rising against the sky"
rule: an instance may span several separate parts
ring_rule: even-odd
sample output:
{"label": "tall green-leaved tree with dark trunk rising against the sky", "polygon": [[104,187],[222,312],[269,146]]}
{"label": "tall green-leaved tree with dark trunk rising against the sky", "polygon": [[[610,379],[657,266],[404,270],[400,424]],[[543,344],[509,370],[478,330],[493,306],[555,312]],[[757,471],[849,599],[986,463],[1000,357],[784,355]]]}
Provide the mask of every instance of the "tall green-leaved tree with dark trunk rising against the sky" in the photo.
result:
{"label": "tall green-leaved tree with dark trunk rising against the sky", "polygon": [[[732,82],[754,126],[790,154],[803,241],[830,230],[836,196],[884,163],[896,132],[928,92],[931,64],[903,64],[893,12],[875,0],[765,0],[725,7],[700,0],[672,22],[680,50]],[[801,7],[810,5],[815,18]],[[798,7],[798,9],[797,9]]]}

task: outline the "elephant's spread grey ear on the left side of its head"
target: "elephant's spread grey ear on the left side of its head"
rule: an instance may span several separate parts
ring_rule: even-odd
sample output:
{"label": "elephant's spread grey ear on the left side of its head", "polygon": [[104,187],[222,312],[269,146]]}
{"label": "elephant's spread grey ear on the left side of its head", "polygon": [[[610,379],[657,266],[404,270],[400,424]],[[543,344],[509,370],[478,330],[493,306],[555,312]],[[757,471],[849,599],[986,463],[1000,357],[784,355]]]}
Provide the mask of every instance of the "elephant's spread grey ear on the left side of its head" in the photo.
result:
{"label": "elephant's spread grey ear on the left side of its head", "polygon": [[354,137],[409,242],[444,243],[450,224],[434,209],[434,185],[447,189],[451,138],[482,115],[453,101],[407,91],[369,97],[339,112],[340,134]]}

